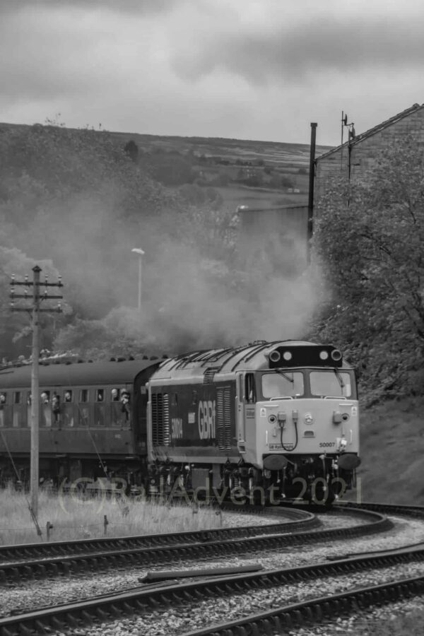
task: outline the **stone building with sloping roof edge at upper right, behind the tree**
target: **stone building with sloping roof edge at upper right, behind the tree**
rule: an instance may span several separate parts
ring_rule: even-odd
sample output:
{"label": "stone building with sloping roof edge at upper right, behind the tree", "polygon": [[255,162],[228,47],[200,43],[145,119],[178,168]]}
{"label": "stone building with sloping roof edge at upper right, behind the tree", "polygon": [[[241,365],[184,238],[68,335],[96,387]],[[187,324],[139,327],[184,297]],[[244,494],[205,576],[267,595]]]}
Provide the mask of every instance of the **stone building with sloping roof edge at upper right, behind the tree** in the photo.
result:
{"label": "stone building with sloping roof edge at upper right, behind the tree", "polygon": [[315,203],[323,194],[329,179],[339,175],[347,179],[366,177],[384,148],[408,134],[418,143],[424,143],[424,105],[414,104],[360,135],[349,136],[342,146],[317,157]]}

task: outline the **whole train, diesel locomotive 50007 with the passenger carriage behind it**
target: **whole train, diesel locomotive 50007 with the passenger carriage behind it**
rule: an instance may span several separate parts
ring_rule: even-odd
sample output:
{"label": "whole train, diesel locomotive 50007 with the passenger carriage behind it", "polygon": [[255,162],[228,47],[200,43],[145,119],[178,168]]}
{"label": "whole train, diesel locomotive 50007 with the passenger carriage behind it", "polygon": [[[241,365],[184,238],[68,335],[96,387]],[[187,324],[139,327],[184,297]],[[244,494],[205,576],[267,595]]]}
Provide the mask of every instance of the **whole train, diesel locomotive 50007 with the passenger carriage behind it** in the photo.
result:
{"label": "whole train, diesel locomotive 50007 with the passenger carriage behind it", "polygon": [[[0,370],[0,478],[28,478],[30,368]],[[40,366],[40,477],[157,493],[331,502],[359,458],[353,368],[334,346],[258,341]]]}

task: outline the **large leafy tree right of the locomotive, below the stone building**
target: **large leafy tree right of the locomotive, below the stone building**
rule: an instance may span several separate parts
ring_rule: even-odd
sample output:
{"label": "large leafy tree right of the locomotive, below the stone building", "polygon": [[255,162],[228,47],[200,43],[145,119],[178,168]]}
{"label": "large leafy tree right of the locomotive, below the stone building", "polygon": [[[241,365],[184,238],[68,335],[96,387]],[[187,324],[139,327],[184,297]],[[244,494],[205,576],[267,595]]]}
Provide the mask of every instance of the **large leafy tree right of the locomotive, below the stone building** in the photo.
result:
{"label": "large leafy tree right of the locomotive, below the stone building", "polygon": [[319,201],[315,259],[329,297],[316,325],[362,372],[367,392],[423,393],[424,157],[411,138],[366,180],[338,179]]}

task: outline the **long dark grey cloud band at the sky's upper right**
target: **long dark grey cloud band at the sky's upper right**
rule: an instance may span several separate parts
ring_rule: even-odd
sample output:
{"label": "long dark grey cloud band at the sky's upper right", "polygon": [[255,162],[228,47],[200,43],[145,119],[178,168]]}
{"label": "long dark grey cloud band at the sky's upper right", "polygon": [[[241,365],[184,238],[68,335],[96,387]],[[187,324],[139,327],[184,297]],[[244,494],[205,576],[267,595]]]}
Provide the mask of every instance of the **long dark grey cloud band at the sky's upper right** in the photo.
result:
{"label": "long dark grey cloud band at the sky's upper right", "polygon": [[[423,17],[423,16],[422,16]],[[209,26],[201,37],[176,50],[173,66],[191,81],[214,69],[262,85],[285,80],[296,83],[312,73],[348,73],[361,68],[420,68],[424,49],[420,23],[409,16],[298,16],[295,23],[233,24],[233,28]],[[240,26],[240,28],[237,28]],[[201,25],[202,28],[202,25]]]}

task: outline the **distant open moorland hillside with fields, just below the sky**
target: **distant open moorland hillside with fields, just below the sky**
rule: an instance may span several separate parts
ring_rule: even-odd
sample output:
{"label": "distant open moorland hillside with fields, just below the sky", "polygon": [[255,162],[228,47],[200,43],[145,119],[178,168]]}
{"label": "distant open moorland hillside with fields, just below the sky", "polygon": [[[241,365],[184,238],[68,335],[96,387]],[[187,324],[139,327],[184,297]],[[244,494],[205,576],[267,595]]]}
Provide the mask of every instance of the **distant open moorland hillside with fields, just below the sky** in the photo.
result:
{"label": "distant open moorland hillside with fields, just below the sky", "polygon": [[[0,130],[29,128],[25,124],[0,123]],[[100,136],[105,133],[96,132]],[[133,144],[134,161],[155,181],[175,188],[185,184],[213,187],[230,209],[307,203],[310,146],[305,143],[108,134],[120,148]],[[330,148],[317,146],[316,155]]]}

